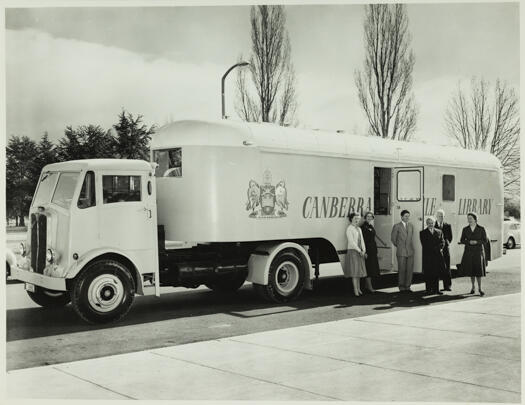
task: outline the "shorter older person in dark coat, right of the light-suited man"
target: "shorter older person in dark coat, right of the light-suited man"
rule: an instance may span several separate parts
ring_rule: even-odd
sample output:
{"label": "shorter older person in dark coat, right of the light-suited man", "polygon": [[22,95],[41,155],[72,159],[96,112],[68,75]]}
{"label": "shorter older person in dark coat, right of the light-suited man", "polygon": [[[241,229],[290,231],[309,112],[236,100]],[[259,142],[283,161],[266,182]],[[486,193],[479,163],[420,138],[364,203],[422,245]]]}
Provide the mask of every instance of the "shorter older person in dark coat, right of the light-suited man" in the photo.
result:
{"label": "shorter older person in dark coat, right of the light-suited man", "polygon": [[419,240],[423,247],[425,285],[427,293],[443,295],[439,291],[439,276],[445,268],[442,252],[445,247],[445,239],[443,238],[443,232],[434,227],[434,218],[427,218],[426,224],[427,227],[419,232]]}

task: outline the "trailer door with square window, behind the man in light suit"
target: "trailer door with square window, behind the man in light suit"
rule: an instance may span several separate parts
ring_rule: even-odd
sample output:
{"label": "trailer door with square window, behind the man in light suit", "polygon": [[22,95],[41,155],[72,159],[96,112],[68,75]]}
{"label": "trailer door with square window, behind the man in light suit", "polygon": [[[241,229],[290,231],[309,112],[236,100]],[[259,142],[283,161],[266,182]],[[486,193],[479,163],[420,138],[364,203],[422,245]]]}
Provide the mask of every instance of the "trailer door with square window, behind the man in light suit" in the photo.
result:
{"label": "trailer door with square window, behind the man in light suit", "polygon": [[[392,170],[392,214],[394,223],[401,221],[401,211],[410,212],[414,226],[414,272],[422,271],[422,249],[419,232],[424,229],[424,168],[396,167]],[[396,249],[392,247],[393,268],[397,271]]]}

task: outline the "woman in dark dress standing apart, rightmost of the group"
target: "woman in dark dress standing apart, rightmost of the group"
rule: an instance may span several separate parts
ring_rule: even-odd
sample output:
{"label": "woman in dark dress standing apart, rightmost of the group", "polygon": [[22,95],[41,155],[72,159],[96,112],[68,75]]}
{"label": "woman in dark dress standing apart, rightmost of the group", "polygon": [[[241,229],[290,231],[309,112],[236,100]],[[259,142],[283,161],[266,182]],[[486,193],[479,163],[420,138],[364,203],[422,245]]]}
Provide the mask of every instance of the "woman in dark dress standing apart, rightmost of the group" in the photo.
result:
{"label": "woman in dark dress standing apart, rightmost of the group", "polygon": [[472,282],[470,293],[474,294],[474,280],[476,279],[478,281],[479,295],[483,297],[485,293],[481,290],[481,277],[485,277],[485,269],[487,267],[486,251],[490,241],[487,238],[485,228],[478,225],[478,217],[475,213],[469,212],[467,220],[469,224],[463,228],[459,242],[465,245],[461,267],[463,273],[466,276],[470,276],[470,281]]}

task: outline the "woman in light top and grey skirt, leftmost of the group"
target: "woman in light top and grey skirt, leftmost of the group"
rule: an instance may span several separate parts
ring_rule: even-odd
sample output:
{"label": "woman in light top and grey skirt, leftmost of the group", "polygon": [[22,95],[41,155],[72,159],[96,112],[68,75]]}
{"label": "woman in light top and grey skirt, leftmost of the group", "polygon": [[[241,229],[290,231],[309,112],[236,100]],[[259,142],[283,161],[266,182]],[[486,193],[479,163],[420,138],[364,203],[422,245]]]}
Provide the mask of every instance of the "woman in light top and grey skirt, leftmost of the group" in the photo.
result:
{"label": "woman in light top and grey skirt, leftmost of the group", "polygon": [[361,291],[361,278],[366,277],[366,247],[363,239],[363,233],[359,227],[361,216],[352,212],[348,215],[350,225],[346,229],[346,238],[348,240],[346,259],[344,266],[344,275],[346,278],[352,278],[352,286],[356,297],[363,295]]}

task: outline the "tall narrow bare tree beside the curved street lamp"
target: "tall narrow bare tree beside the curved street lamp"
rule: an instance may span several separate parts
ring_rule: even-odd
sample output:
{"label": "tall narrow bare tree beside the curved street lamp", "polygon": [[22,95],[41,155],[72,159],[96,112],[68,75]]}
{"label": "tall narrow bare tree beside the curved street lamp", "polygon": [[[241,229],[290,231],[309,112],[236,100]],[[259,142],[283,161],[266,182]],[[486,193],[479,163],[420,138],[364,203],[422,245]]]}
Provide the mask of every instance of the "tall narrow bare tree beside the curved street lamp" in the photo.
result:
{"label": "tall narrow bare tree beside the curved street lamp", "polygon": [[252,6],[250,23],[250,67],[237,71],[237,114],[245,121],[294,125],[296,78],[284,7]]}

